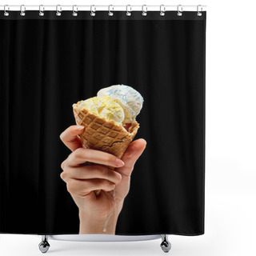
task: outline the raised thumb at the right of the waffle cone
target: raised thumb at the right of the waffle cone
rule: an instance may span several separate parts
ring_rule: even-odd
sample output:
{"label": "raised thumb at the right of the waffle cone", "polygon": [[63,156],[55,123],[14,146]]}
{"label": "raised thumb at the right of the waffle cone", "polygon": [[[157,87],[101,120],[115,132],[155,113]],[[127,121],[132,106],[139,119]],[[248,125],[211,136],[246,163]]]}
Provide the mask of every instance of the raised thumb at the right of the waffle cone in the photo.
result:
{"label": "raised thumb at the right of the waffle cone", "polygon": [[125,154],[122,156],[122,161],[125,163],[121,168],[116,168],[118,173],[130,176],[132,170],[134,169],[134,164],[141,156],[146,148],[146,140],[139,138],[134,142],[131,142],[128,146]]}

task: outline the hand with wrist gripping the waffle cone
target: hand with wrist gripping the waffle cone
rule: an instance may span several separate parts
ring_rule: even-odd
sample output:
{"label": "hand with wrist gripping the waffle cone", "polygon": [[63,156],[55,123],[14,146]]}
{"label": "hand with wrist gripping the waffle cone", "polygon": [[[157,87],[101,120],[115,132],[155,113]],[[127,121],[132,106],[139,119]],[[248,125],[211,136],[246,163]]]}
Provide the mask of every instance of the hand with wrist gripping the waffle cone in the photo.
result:
{"label": "hand with wrist gripping the waffle cone", "polygon": [[[146,141],[140,138],[131,142],[121,161],[113,154],[82,148],[78,134],[83,129],[70,126],[60,136],[73,151],[62,162],[61,178],[79,209],[79,234],[115,234],[118,215],[130,189],[130,175]],[[86,162],[94,165],[86,166]],[[96,196],[94,190],[102,191]]]}

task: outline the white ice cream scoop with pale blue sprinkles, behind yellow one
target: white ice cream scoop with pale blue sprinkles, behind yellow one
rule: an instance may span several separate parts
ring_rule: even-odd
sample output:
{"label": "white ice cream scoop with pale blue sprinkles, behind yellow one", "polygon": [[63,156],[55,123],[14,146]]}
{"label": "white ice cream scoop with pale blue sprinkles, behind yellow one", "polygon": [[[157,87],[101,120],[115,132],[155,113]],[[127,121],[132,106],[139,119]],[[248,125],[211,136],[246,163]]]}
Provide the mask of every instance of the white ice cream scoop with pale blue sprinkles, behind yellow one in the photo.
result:
{"label": "white ice cream scoop with pale blue sprinkles, behind yellow one", "polygon": [[125,85],[115,85],[103,88],[98,91],[97,96],[102,97],[104,95],[110,96],[110,98],[116,99],[116,101],[122,106],[125,118],[123,123],[136,122],[136,116],[142,110],[143,98],[142,95],[134,88]]}

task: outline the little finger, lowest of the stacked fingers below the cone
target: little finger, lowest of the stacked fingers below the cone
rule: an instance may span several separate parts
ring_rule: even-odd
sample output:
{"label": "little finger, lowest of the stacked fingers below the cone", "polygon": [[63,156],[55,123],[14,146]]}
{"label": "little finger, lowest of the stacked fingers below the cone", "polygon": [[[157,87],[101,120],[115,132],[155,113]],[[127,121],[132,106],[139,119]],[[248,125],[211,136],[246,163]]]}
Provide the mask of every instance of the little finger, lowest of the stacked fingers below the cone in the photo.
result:
{"label": "little finger, lowest of the stacked fingers below the cone", "polygon": [[114,190],[115,185],[106,179],[95,178],[86,181],[72,179],[66,183],[66,188],[72,195],[83,196],[94,190]]}

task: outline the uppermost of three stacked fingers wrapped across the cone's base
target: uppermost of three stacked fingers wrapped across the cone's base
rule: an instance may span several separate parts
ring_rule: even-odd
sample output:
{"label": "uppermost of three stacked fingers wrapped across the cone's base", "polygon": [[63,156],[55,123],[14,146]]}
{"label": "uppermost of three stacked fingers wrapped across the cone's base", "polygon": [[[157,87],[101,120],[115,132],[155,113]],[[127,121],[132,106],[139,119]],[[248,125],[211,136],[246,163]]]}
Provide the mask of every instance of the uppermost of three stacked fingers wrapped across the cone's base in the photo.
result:
{"label": "uppermost of three stacked fingers wrapped across the cone's base", "polygon": [[69,166],[80,166],[85,162],[95,162],[105,166],[121,167],[124,165],[121,159],[99,150],[78,148],[66,159]]}

